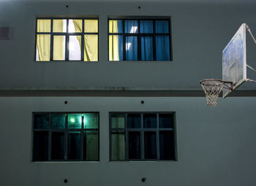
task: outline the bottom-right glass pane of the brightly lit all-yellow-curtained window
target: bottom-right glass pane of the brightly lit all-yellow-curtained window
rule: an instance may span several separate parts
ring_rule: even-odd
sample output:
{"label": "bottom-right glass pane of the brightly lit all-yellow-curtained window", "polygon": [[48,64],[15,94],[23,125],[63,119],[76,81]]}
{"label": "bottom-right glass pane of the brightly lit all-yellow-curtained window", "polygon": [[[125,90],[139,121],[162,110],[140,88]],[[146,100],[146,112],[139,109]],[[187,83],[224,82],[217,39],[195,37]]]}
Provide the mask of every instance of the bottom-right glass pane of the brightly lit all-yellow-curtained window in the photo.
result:
{"label": "bottom-right glass pane of the brightly lit all-yellow-curtained window", "polygon": [[84,61],[98,61],[98,35],[84,35]]}

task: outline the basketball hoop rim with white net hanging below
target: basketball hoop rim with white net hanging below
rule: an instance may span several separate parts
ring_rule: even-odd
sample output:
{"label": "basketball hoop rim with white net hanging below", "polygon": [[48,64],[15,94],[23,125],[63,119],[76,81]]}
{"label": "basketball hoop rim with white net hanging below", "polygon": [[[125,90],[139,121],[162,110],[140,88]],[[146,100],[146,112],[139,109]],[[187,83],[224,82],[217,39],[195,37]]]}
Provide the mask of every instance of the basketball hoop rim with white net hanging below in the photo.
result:
{"label": "basketball hoop rim with white net hanging below", "polygon": [[[230,84],[230,86],[227,85]],[[218,79],[206,79],[201,80],[200,85],[206,93],[206,101],[208,106],[217,106],[217,99],[222,88],[233,90],[233,82],[225,82]]]}

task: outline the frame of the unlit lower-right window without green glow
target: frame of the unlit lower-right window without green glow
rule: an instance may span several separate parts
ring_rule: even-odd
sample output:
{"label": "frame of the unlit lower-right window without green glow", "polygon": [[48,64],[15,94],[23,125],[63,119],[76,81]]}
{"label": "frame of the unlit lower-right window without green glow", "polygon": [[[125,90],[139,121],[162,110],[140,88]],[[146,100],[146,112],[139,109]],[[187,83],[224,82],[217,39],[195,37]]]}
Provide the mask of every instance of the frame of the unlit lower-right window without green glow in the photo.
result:
{"label": "frame of the unlit lower-right window without green glow", "polygon": [[[124,128],[111,128],[111,115],[124,115]],[[141,126],[140,128],[127,128],[127,115],[129,114],[140,114]],[[145,114],[155,114],[157,115],[157,128],[143,128],[143,115]],[[173,128],[159,128],[159,115],[161,114],[169,114],[173,115]],[[112,141],[111,141],[111,131],[124,131],[124,142],[125,142],[125,159],[124,160],[112,160],[111,152],[112,152]],[[140,131],[140,159],[129,159],[129,139],[128,133],[129,131]],[[144,144],[144,133],[148,131],[156,132],[156,143],[157,143],[157,158],[156,159],[146,159],[145,158],[145,144]],[[174,158],[170,160],[160,159],[159,155],[159,131],[173,131],[173,153]],[[113,162],[125,162],[125,161],[178,161],[177,154],[177,133],[176,133],[176,112],[109,112],[109,160]]]}

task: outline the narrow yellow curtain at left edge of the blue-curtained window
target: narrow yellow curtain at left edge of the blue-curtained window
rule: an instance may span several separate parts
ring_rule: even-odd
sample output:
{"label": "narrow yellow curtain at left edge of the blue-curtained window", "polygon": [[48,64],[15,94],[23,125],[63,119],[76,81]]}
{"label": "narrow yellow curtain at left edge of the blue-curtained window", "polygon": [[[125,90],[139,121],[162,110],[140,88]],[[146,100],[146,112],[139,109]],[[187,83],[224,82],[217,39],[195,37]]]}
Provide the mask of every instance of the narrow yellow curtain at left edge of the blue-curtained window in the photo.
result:
{"label": "narrow yellow curtain at left edge of the blue-curtained window", "polygon": [[[109,21],[109,32],[118,33],[117,20]],[[109,61],[119,61],[118,36],[109,36]]]}

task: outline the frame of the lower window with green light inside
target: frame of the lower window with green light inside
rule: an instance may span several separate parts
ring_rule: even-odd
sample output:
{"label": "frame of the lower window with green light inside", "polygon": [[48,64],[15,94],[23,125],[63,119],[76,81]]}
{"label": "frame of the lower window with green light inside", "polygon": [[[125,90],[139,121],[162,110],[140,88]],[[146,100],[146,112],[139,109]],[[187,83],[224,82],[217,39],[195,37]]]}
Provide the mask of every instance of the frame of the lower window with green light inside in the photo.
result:
{"label": "frame of the lower window with green light inside", "polygon": [[[48,114],[49,115],[49,127],[47,129],[36,129],[34,128],[34,116],[35,115],[42,115],[42,114]],[[56,114],[64,114],[65,115],[65,128],[51,128],[52,124],[52,115]],[[73,161],[81,161],[81,162],[98,162],[99,161],[99,123],[100,118],[98,120],[98,128],[83,128],[83,117],[82,117],[82,123],[81,128],[67,128],[68,120],[67,116],[69,114],[98,114],[99,118],[99,112],[32,112],[32,128],[31,128],[31,162],[73,162]],[[34,160],[34,132],[36,131],[48,131],[48,160]],[[72,131],[80,131],[80,159],[72,160],[68,158],[68,132]],[[97,160],[84,160],[84,138],[83,138],[83,132],[84,131],[97,131],[98,133],[98,159]],[[52,147],[52,133],[53,132],[63,132],[64,133],[64,159],[62,160],[53,160],[51,159],[51,147]]]}

